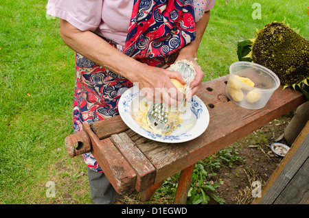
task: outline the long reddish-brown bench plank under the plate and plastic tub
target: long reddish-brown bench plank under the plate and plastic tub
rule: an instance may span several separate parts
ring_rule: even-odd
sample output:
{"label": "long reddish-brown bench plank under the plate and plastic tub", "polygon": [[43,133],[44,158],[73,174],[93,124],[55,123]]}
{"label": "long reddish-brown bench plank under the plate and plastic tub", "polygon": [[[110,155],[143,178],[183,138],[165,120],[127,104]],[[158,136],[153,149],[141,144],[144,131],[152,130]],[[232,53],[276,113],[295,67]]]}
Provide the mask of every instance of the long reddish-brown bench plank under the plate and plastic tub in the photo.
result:
{"label": "long reddish-brown bench plank under the plate and plastic tub", "polygon": [[[199,160],[218,152],[254,130],[303,104],[306,98],[299,91],[280,86],[268,104],[260,110],[240,108],[232,101],[218,100],[225,95],[227,77],[202,85],[197,95],[207,105],[210,121],[207,130],[186,143],[158,143],[128,130],[132,141],[157,169],[155,184],[165,180]],[[212,90],[207,90],[211,87]]]}

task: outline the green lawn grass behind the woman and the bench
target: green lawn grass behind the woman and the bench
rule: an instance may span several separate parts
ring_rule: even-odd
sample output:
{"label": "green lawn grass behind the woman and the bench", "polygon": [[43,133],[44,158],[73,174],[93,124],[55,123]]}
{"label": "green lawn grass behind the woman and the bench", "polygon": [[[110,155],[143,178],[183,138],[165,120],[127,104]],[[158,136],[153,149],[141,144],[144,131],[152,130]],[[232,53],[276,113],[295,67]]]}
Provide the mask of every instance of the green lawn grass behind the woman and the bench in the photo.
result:
{"label": "green lawn grass behind the woman and the bench", "polygon": [[[261,19],[252,19],[255,2]],[[64,147],[73,133],[74,52],[60,38],[58,19],[46,16],[46,4],[0,5],[0,204],[92,203],[86,165]],[[198,51],[204,81],[228,73],[238,40],[253,38],[255,27],[286,18],[308,39],[307,13],[306,0],[231,0],[226,8],[217,0]],[[53,198],[46,195],[49,181]]]}

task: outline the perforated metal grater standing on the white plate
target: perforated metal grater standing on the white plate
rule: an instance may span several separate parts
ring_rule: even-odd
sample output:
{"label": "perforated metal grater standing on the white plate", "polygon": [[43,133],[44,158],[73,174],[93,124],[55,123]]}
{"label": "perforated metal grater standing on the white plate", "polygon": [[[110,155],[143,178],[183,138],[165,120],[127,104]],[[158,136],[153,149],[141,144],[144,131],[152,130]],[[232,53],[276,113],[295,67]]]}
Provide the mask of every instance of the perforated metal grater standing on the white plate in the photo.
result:
{"label": "perforated metal grater standing on the white plate", "polygon": [[152,103],[147,114],[147,122],[150,128],[162,133],[169,132],[174,125],[174,122],[168,124],[168,112],[161,103]]}

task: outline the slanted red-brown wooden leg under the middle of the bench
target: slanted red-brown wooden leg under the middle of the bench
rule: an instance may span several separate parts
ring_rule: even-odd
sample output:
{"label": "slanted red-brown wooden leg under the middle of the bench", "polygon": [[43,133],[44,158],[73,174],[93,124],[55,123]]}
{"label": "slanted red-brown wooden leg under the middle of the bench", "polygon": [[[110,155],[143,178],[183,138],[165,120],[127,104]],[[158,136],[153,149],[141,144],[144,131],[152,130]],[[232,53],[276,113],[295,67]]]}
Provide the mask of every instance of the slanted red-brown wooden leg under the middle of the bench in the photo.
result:
{"label": "slanted red-brown wooden leg under the middle of the bench", "polygon": [[174,199],[174,204],[185,204],[187,202],[187,193],[190,189],[190,183],[192,173],[194,171],[194,165],[187,167],[181,171],[181,175],[178,182],[178,187]]}

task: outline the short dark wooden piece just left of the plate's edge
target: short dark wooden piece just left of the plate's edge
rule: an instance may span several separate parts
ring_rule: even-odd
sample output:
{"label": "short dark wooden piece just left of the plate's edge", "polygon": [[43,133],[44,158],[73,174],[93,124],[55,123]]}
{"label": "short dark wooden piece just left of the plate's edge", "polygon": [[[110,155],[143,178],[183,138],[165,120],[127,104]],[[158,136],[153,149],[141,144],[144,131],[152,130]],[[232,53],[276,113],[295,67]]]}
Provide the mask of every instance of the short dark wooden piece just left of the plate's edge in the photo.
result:
{"label": "short dark wooden piece just left of the plate's edge", "polygon": [[107,138],[112,134],[118,134],[128,130],[128,126],[122,121],[120,116],[91,123],[90,127],[99,139]]}

